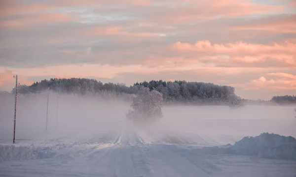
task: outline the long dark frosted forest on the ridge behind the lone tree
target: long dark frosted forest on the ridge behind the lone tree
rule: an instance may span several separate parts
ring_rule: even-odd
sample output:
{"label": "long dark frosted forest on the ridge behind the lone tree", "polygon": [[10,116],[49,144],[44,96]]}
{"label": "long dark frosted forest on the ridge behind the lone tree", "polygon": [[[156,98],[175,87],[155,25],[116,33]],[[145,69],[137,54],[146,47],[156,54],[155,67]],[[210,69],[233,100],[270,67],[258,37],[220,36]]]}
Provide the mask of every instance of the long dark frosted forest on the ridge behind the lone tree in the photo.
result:
{"label": "long dark frosted forest on the ridge behind the lone tree", "polygon": [[[235,94],[235,89],[229,86],[219,86],[212,83],[186,81],[144,81],[127,87],[124,84],[105,83],[95,79],[71,78],[42,80],[31,86],[22,85],[18,88],[20,94],[41,92],[47,89],[60,93],[92,94],[103,91],[114,93],[137,94],[142,88],[156,90],[163,95],[166,103],[196,103],[196,104],[223,104],[227,98]],[[14,90],[12,90],[14,92]]]}

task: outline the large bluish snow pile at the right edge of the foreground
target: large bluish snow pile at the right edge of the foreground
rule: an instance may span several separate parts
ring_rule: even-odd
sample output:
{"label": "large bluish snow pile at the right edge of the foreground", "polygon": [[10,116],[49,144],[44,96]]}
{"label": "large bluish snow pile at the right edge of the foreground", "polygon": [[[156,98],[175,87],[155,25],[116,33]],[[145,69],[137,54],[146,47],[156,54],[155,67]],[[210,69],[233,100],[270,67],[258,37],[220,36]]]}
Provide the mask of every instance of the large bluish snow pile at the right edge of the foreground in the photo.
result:
{"label": "large bluish snow pile at the right edge of the foreground", "polygon": [[291,136],[262,133],[257,137],[244,137],[229,148],[240,155],[296,160],[296,139]]}

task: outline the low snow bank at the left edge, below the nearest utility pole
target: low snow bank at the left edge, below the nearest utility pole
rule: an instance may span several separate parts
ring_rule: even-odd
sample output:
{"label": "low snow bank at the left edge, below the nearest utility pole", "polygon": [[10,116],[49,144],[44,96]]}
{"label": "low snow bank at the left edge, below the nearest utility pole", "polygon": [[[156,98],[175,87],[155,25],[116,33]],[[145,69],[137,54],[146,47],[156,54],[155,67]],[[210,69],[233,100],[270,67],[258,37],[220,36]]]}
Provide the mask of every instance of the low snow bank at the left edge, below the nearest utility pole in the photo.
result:
{"label": "low snow bank at the left edge, below the nearest utility pole", "polygon": [[30,148],[14,145],[0,145],[0,162],[8,160],[33,160],[50,158],[54,155],[51,148]]}

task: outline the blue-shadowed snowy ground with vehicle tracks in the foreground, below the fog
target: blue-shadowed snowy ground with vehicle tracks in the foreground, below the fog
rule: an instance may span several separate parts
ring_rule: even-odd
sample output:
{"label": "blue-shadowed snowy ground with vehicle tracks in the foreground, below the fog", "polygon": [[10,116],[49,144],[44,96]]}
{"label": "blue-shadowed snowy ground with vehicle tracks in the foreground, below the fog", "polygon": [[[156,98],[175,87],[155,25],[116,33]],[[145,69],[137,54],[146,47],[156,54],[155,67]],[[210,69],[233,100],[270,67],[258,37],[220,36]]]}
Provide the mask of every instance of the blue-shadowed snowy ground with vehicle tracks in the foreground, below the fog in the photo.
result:
{"label": "blue-shadowed snowy ground with vehicle tracks in the foreground, below the fog", "polygon": [[[43,135],[0,141],[1,177],[295,177],[296,161],[215,155],[201,147],[208,135],[156,137],[122,129],[113,133]],[[186,138],[185,138],[186,137]],[[230,139],[230,138],[229,138]],[[231,141],[231,140],[229,140]]]}

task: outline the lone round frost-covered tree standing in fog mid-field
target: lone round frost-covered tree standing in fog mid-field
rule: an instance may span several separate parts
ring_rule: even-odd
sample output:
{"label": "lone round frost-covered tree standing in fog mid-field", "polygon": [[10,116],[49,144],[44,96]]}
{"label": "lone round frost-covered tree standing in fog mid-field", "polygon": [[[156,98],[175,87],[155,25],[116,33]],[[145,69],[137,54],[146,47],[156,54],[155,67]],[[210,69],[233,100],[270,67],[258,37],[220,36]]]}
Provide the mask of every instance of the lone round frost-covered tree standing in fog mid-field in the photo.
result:
{"label": "lone round frost-covered tree standing in fog mid-field", "polygon": [[162,118],[162,94],[142,87],[131,104],[132,110],[126,114],[134,122],[154,121]]}

